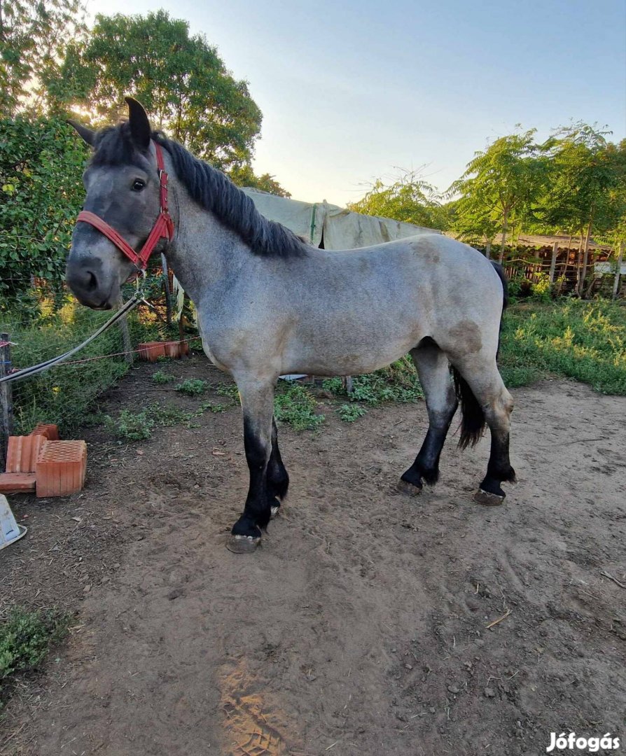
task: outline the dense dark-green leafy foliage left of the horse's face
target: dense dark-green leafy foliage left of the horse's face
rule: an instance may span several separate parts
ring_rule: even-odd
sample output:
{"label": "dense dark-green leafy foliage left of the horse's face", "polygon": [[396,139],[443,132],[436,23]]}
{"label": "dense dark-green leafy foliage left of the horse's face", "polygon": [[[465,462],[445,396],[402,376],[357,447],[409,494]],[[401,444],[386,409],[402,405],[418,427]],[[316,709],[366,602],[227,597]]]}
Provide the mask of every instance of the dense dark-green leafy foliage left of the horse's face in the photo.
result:
{"label": "dense dark-green leafy foliage left of the horse's face", "polygon": [[0,310],[32,304],[33,279],[64,285],[87,147],[59,120],[0,120]]}

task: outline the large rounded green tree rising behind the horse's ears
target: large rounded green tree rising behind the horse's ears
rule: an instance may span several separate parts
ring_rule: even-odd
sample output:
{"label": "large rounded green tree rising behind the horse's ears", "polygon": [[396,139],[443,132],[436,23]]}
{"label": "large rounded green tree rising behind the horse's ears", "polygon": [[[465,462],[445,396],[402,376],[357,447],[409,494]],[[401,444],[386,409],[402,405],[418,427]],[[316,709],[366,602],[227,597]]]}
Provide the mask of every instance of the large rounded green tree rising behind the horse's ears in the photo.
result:
{"label": "large rounded green tree rising behind the horse's ears", "polygon": [[249,162],[262,115],[248,85],[234,79],[202,35],[166,11],[98,15],[85,42],[69,45],[61,79],[48,79],[58,107],[121,115],[133,95],[158,129],[222,169]]}

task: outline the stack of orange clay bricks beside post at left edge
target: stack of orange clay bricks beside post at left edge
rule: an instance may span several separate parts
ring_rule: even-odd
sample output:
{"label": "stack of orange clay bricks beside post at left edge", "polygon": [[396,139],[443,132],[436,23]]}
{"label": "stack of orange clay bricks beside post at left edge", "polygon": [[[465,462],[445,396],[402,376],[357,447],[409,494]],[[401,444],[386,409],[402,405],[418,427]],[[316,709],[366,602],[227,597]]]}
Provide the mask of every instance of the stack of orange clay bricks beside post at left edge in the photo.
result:
{"label": "stack of orange clay bricks beside post at left edge", "polygon": [[85,442],[60,441],[57,426],[40,423],[30,435],[9,438],[7,471],[0,474],[0,492],[67,496],[82,490],[86,470]]}

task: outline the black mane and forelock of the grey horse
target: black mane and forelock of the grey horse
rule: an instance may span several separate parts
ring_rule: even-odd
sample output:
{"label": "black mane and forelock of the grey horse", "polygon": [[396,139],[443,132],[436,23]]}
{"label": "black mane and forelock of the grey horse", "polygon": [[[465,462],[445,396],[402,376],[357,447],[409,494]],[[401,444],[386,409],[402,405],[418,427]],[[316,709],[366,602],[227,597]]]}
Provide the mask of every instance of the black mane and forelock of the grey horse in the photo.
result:
{"label": "black mane and forelock of the grey horse", "polygon": [[[280,223],[269,221],[222,171],[198,160],[181,144],[153,132],[152,138],[169,152],[176,177],[192,199],[238,234],[250,250],[262,257],[302,256],[308,244]],[[141,153],[132,141],[129,122],[101,129],[95,135],[93,166],[141,165]]]}

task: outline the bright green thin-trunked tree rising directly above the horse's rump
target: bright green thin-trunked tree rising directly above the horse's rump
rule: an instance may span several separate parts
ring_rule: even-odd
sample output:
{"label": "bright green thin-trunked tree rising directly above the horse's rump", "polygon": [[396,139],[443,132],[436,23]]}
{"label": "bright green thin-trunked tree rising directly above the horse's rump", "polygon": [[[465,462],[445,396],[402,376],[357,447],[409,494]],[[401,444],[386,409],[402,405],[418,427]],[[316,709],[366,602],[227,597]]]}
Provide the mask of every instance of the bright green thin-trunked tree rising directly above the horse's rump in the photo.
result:
{"label": "bright green thin-trunked tree rising directly above the horse's rump", "polygon": [[454,229],[463,237],[487,240],[502,234],[500,262],[507,232],[528,217],[547,175],[547,159],[535,144],[535,129],[500,137],[484,152],[477,152],[466,171],[448,189],[460,195]]}

